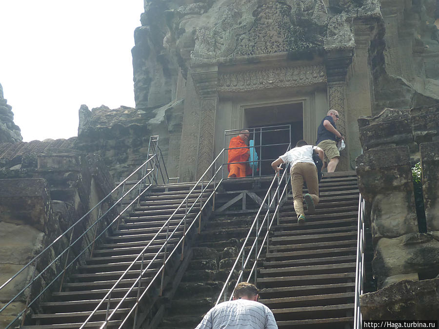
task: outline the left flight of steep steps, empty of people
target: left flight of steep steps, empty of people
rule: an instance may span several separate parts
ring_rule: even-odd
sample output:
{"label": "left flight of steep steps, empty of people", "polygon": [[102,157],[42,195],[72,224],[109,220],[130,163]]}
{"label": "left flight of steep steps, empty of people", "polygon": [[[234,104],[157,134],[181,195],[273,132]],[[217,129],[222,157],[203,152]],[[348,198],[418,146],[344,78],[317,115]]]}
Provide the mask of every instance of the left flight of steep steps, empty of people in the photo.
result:
{"label": "left flight of steep steps, empty of people", "polygon": [[[188,194],[194,183],[167,184],[156,186],[146,195],[129,215],[124,218],[117,229],[105,238],[105,241],[95,246],[93,257],[86,259],[85,263],[78,267],[78,271],[69,275],[63,284],[61,291],[52,292],[50,301],[40,303],[40,312],[32,315],[33,325],[26,325],[22,328],[32,329],[52,329],[52,328],[79,328],[80,324],[86,320],[91,311],[98,305],[101,298],[116,283],[121,274],[128,268],[136,256],[151,241],[151,238],[159,231],[160,227],[177,209],[181,201]],[[200,191],[200,190],[195,190]],[[212,189],[207,190],[211,193]],[[194,201],[196,196],[191,197],[189,201]],[[172,232],[184,215],[184,207],[176,213],[175,219],[171,220],[169,232]],[[194,208],[189,215],[194,218],[199,212],[198,207]],[[171,246],[182,236],[179,229],[175,238],[171,239],[171,245],[168,245],[168,252]],[[197,228],[193,229],[193,233]],[[196,234],[193,234],[196,235]],[[151,248],[145,253],[143,268],[145,268],[153,256],[159,251],[160,246],[166,239],[166,230],[160,233],[158,238],[153,242]],[[186,239],[186,246],[190,239]],[[189,250],[189,248],[187,248]],[[172,298],[172,293],[178,286],[187,264],[190,260],[191,252],[185,252],[185,258],[180,261],[180,252],[174,257],[171,265],[165,271],[164,286],[167,287],[167,294],[158,297],[160,278],[158,284],[152,286],[154,293],[145,296],[148,303],[141,305],[137,323],[148,323],[158,321],[155,315],[163,309],[161,301]],[[158,268],[163,262],[163,252],[157,258],[150,270],[147,271],[141,280],[141,287],[145,287],[151,282],[151,278],[157,273]],[[111,295],[109,310],[114,310],[115,306],[121,301],[122,296],[129,290],[129,287],[135,282],[139,275],[141,261],[136,262],[134,267],[128,271]],[[175,288],[173,288],[175,287]],[[122,304],[122,307],[115,314],[116,316],[107,324],[107,328],[120,326],[123,318],[132,305],[136,302],[138,288],[131,291],[128,298]],[[101,321],[104,320],[107,311],[107,302],[103,303],[98,312],[92,318],[92,321],[86,328],[99,328]],[[161,313],[160,313],[161,316]],[[132,321],[130,319],[129,321]],[[132,323],[132,322],[131,322]],[[132,326],[132,324],[131,324]],[[145,327],[146,328],[146,327]]]}

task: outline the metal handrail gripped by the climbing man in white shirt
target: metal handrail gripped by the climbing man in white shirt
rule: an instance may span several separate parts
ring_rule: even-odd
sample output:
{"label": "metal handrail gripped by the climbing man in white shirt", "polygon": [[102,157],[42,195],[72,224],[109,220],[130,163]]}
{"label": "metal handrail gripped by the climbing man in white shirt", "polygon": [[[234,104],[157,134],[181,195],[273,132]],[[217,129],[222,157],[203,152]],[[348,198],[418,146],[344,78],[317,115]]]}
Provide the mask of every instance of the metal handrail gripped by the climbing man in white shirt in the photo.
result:
{"label": "metal handrail gripped by the climbing man in white shirt", "polygon": [[[241,249],[240,249],[240,251],[238,253],[238,256],[237,256],[237,258],[235,260],[235,263],[233,264],[233,267],[230,270],[230,273],[229,273],[229,275],[228,275],[228,277],[227,277],[227,279],[226,279],[226,281],[224,283],[224,286],[221,289],[220,295],[218,296],[218,299],[217,299],[217,302],[215,303],[215,305],[220,303],[220,300],[221,300],[222,297],[223,297],[224,301],[226,301],[226,299],[227,299],[227,288],[228,288],[229,282],[232,279],[232,275],[233,275],[233,273],[235,271],[235,268],[237,267],[239,261],[241,261],[241,270],[239,271],[238,279],[237,279],[237,282],[236,282],[236,285],[238,285],[238,283],[240,282],[240,279],[244,275],[244,271],[246,270],[246,265],[247,265],[248,261],[250,260],[250,258],[252,256],[253,250],[255,250],[255,259],[254,259],[253,266],[252,266],[252,268],[250,270],[250,273],[249,273],[247,281],[250,281],[250,279],[251,279],[251,277],[253,275],[253,272],[254,272],[255,273],[254,274],[255,275],[254,282],[256,283],[257,273],[258,273],[258,271],[257,271],[257,263],[258,263],[258,260],[259,260],[259,256],[260,256],[260,254],[261,254],[261,252],[262,252],[264,247],[267,248],[266,251],[268,252],[268,248],[269,248],[268,247],[268,235],[270,233],[270,229],[271,229],[271,227],[273,225],[273,221],[274,221],[275,217],[277,217],[277,224],[279,224],[280,200],[282,200],[283,196],[286,197],[287,187],[288,187],[288,180],[287,180],[287,176],[288,175],[289,175],[288,174],[288,170],[285,170],[283,172],[281,178],[279,178],[279,174],[275,174],[274,175],[274,177],[273,177],[273,179],[271,181],[270,187],[268,188],[267,193],[265,194],[265,197],[262,200],[262,203],[261,203],[261,206],[259,207],[258,213],[256,214],[255,219],[253,220],[253,223],[252,223],[252,225],[251,225],[251,227],[250,227],[250,229],[249,229],[249,231],[247,233],[247,236],[245,237],[244,243],[242,244],[242,247],[241,247]],[[285,185],[283,187],[282,193],[279,195],[279,190],[280,190],[280,186],[281,186],[280,182],[283,181],[284,178],[285,178]],[[273,187],[273,185],[274,185],[276,180],[277,180],[278,186],[277,186],[276,190],[274,191],[274,193],[272,193],[272,196],[270,197],[272,187]],[[266,210],[266,213],[265,213],[265,216],[264,216],[262,222],[259,223],[259,214],[261,213],[262,209],[264,208],[264,205],[265,205],[265,202],[266,202],[267,198],[270,199],[269,205],[267,207],[267,210]],[[276,208],[275,208],[275,210],[273,212],[271,220],[269,220],[268,218],[270,216],[270,209],[273,208],[272,207],[273,203],[276,204]],[[260,248],[258,250],[258,239],[259,239],[260,233],[262,232],[262,230],[264,228],[265,220],[267,220],[266,231],[265,231],[265,234],[264,234],[264,238],[263,238],[263,240],[261,242]],[[251,234],[253,232],[253,229],[255,228],[255,225],[256,225],[255,240],[253,241],[253,244],[252,244],[252,246],[250,248],[250,251],[247,253],[247,258],[245,259],[245,262],[244,262],[244,254],[245,254],[245,249],[247,248],[247,242],[248,242],[248,240],[249,240],[249,238],[250,238],[250,236],[251,236]],[[266,246],[264,246],[265,242],[267,242]],[[236,285],[235,285],[235,287],[236,287]],[[230,296],[230,299],[231,298],[232,298],[232,295]]]}

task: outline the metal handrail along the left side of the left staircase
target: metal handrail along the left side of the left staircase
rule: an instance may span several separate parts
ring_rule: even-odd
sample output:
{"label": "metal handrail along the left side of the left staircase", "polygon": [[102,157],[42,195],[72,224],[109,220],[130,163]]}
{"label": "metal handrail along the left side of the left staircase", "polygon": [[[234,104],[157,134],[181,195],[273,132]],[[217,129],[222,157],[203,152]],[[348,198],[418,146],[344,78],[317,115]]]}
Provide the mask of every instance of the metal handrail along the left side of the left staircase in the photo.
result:
{"label": "metal handrail along the left side of the left staircase", "polygon": [[[156,139],[154,139],[153,137],[157,137]],[[152,140],[154,139],[154,140]],[[158,142],[158,136],[151,136],[150,137],[150,144],[151,144],[151,140],[154,143]],[[32,274],[32,278],[31,281],[26,284],[24,286],[24,288],[22,288],[20,290],[19,293],[17,293],[9,302],[7,302],[1,309],[0,309],[0,313],[5,310],[9,305],[11,305],[15,300],[17,300],[19,298],[19,296],[26,291],[27,289],[29,289],[29,293],[27,296],[27,301],[26,301],[26,306],[25,309],[21,310],[18,315],[16,316],[15,319],[13,319],[9,325],[6,328],[9,328],[10,326],[12,326],[19,318],[20,316],[22,316],[23,314],[25,314],[27,312],[27,310],[33,305],[33,303],[35,303],[40,296],[47,290],[49,289],[61,276],[61,281],[60,281],[60,288],[62,287],[62,283],[64,280],[64,276],[65,273],[67,272],[67,270],[80,258],[80,256],[82,254],[84,254],[86,251],[90,250],[91,247],[91,252],[90,254],[93,253],[93,249],[94,249],[94,245],[96,240],[98,240],[105,232],[107,232],[107,230],[113,226],[113,224],[115,224],[117,222],[117,225],[119,226],[119,222],[120,222],[120,218],[121,215],[123,213],[125,213],[125,211],[127,211],[133,204],[134,202],[136,202],[138,199],[140,199],[140,197],[152,186],[151,184],[147,185],[146,184],[146,178],[150,179],[150,175],[154,174],[154,172],[157,172],[158,169],[157,167],[159,163],[154,162],[154,164],[151,166],[151,162],[153,162],[153,160],[155,160],[158,157],[157,153],[151,155],[142,165],[140,165],[133,173],[131,173],[128,177],[126,177],[122,182],[120,182],[120,184],[118,184],[117,187],[115,187],[109,194],[107,194],[102,200],[100,200],[100,202],[98,202],[92,209],[90,209],[87,213],[85,213],[80,219],[78,219],[74,224],[72,224],[65,232],[63,232],[62,234],[60,234],[60,236],[58,236],[52,243],[50,243],[47,247],[45,247],[37,256],[35,256],[31,261],[29,261],[23,268],[20,269],[20,271],[18,271],[16,274],[14,274],[10,279],[8,279],[4,284],[2,284],[0,286],[0,290],[4,289],[5,287],[9,286],[10,284],[12,284],[14,282],[14,279],[17,278],[17,276],[20,275],[20,273],[22,273],[24,270],[26,270],[27,268],[30,268],[30,266],[33,265],[33,274]],[[148,166],[150,166],[151,168],[148,168]],[[134,184],[133,187],[131,187],[127,192],[124,192],[125,190],[125,184],[128,182],[129,178],[131,178],[134,174],[139,173],[139,171],[141,170],[142,174],[140,179]],[[143,187],[142,187],[143,184]],[[134,189],[139,185],[139,192],[138,195],[128,204],[128,206],[126,206],[122,211],[118,212],[118,215],[113,219],[108,221],[108,219],[106,218],[107,214],[110,213],[112,210],[116,211],[117,207],[121,207],[122,201],[125,199],[126,196],[128,196],[132,191],[134,191]],[[113,197],[112,195],[115,194],[115,192],[119,193],[120,191],[120,197],[114,202],[113,205],[111,205],[110,207],[108,207],[108,209],[104,212],[101,213],[101,209],[102,209],[102,205],[105,203],[111,203],[113,201]],[[117,196],[116,196],[117,197]],[[82,232],[82,234],[80,234],[79,237],[77,237],[74,241],[73,241],[73,234],[75,231],[75,228],[78,226],[79,223],[81,223],[85,218],[88,218],[88,216],[95,210],[97,210],[99,207],[99,211],[98,211],[98,218],[84,231]],[[100,232],[99,234],[97,234],[98,231],[98,224],[103,221],[105,219],[107,219],[106,222],[104,222],[104,226],[107,225],[102,232]],[[80,252],[78,253],[78,255],[76,255],[76,257],[74,257],[74,259],[69,263],[69,254],[70,251],[72,249],[72,247],[74,245],[76,245],[78,242],[82,242],[82,238],[85,236],[85,234],[87,234],[88,232],[90,232],[90,230],[92,230],[94,228],[94,236],[91,242],[89,242],[87,244],[87,246],[85,246],[82,250],[80,250]],[[59,252],[58,255],[55,256],[55,258],[50,261],[50,263],[42,270],[40,271],[37,275],[35,275],[35,270],[37,267],[38,262],[40,261],[40,259],[46,255],[47,252],[50,252],[53,250],[53,247],[61,241],[61,239],[66,236],[67,234],[69,234],[69,244],[68,247],[64,248],[64,250],[62,250],[61,252]],[[63,270],[60,271],[60,273],[58,273],[54,279],[52,279],[52,281],[50,283],[48,283],[45,288],[43,290],[40,291],[40,293],[31,301],[30,295],[31,295],[31,290],[32,290],[32,286],[34,284],[34,282],[39,279],[43,273],[45,273],[45,271],[47,271],[48,269],[51,269],[53,267],[53,265],[57,262],[57,261],[61,261],[61,257],[63,255],[65,256],[65,261],[64,261],[64,266],[63,266]],[[56,273],[55,273],[56,274]],[[24,323],[24,318],[25,316],[23,315],[22,317],[22,321],[21,321],[21,325],[23,325]]]}

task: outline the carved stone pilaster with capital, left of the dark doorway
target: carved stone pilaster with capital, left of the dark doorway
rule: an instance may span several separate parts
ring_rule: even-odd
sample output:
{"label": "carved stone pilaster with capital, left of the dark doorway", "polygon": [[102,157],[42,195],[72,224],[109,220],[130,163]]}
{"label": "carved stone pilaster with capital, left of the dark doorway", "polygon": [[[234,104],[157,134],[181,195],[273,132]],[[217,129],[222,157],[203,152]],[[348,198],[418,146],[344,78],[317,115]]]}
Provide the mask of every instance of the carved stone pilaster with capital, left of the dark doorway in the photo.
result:
{"label": "carved stone pilaster with capital, left of the dark doorway", "polygon": [[[196,68],[192,73],[200,96],[200,128],[197,176],[206,171],[214,159],[215,116],[218,108],[218,66]],[[210,178],[210,175],[208,175]]]}

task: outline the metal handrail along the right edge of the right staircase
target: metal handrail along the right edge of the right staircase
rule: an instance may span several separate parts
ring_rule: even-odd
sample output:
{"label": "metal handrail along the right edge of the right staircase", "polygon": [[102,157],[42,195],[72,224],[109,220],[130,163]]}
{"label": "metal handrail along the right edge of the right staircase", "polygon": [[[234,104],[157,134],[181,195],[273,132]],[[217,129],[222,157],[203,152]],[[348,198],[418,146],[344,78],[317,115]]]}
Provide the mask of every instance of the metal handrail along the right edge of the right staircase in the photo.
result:
{"label": "metal handrail along the right edge of the right staircase", "polygon": [[364,252],[365,245],[365,201],[361,194],[358,202],[358,233],[357,233],[357,263],[355,273],[355,305],[354,305],[354,329],[361,329],[361,310],[359,296],[363,294],[364,278]]}

